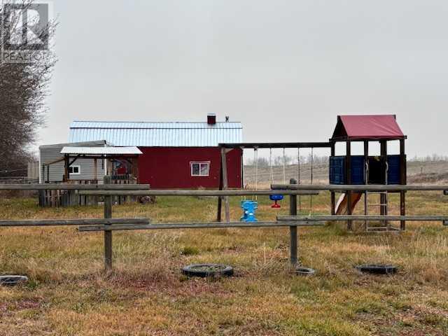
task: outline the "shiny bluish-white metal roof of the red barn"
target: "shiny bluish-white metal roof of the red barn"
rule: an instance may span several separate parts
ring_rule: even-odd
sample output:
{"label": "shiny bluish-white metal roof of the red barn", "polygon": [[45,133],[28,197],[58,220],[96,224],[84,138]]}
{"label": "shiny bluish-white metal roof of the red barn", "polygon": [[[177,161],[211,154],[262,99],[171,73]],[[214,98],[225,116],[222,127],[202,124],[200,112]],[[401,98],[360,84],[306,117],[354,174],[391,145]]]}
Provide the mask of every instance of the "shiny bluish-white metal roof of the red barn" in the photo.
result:
{"label": "shiny bluish-white metal roof of the red barn", "polygon": [[106,140],[115,146],[215,147],[242,142],[241,123],[73,121],[69,142]]}

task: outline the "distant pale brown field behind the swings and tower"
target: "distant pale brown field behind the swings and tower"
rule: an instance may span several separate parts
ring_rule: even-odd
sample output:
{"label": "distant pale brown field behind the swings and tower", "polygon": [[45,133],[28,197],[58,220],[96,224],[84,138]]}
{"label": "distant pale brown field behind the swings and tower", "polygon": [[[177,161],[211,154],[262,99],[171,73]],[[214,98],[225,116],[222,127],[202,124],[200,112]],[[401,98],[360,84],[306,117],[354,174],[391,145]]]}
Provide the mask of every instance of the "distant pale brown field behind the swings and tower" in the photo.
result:
{"label": "distant pale brown field behind the swings and tower", "polygon": [[[286,166],[286,181],[297,179],[297,165]],[[273,167],[274,181],[283,183],[283,166]],[[255,176],[253,166],[244,167],[245,183],[253,185]],[[409,183],[440,183],[448,181],[448,162],[407,162],[407,176]],[[270,168],[258,168],[258,183],[261,186],[267,186],[271,180]],[[302,183],[309,183],[311,180],[311,165],[300,165],[300,180]],[[320,164],[313,167],[313,182],[325,184],[328,183],[328,165]]]}

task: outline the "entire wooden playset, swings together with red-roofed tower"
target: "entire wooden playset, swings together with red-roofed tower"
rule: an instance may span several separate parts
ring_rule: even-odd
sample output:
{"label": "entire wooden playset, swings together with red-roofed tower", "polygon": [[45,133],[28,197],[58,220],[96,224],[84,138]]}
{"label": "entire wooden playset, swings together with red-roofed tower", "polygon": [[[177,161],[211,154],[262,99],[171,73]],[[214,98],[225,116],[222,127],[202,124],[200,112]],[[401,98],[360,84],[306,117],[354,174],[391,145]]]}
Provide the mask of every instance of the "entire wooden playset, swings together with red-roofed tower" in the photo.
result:
{"label": "entire wooden playset, swings together with red-roofed tower", "polygon": [[[273,183],[272,173],[272,148],[283,148],[283,184],[286,184],[285,174],[285,148],[297,148],[297,183],[300,181],[300,148],[311,148],[311,185],[313,184],[313,150],[314,148],[330,148],[329,159],[329,181],[335,185],[406,185],[406,154],[405,139],[407,137],[402,133],[398,126],[395,116],[377,115],[377,116],[338,116],[337,124],[331,139],[326,142],[307,142],[307,143],[241,143],[241,144],[219,144],[221,148],[221,175],[220,190],[228,189],[227,178],[227,158],[228,152],[235,148],[241,149],[241,155],[244,149],[252,148],[254,151],[253,162],[255,190],[258,189],[258,149],[269,148],[269,167],[271,169],[271,184]],[[363,155],[352,155],[351,144],[355,141],[363,142]],[[380,155],[369,155],[369,143],[379,141]],[[388,155],[388,142],[400,141],[400,153],[398,155]],[[346,153],[336,155],[337,142],[346,144]],[[244,179],[244,165],[241,159],[241,178]],[[244,186],[244,183],[241,183]],[[364,214],[369,214],[370,207],[378,207],[379,214],[388,214],[388,191],[363,191],[351,192],[343,190],[339,200],[336,202],[335,192],[331,193],[332,214],[352,214],[356,204],[364,196]],[[400,191],[400,215],[406,214],[405,191]],[[369,204],[370,195],[379,195],[378,204]],[[272,208],[278,208],[280,195],[270,197],[275,203]],[[228,198],[225,197],[225,221],[230,221],[228,212]],[[253,202],[253,200],[251,200]],[[218,199],[217,220],[221,221],[221,197]],[[251,203],[252,204],[252,203]],[[251,204],[248,204],[251,205]],[[299,199],[300,204],[300,199]],[[245,207],[244,202],[241,207]],[[299,206],[300,208],[300,206]],[[310,213],[312,213],[312,195],[310,195]],[[253,216],[255,218],[255,216]],[[390,221],[381,222],[381,226],[370,226],[367,221],[364,223],[364,229],[367,232],[388,232],[405,230],[405,221],[400,221],[400,228],[395,228]],[[348,230],[352,230],[353,222],[347,221]]]}

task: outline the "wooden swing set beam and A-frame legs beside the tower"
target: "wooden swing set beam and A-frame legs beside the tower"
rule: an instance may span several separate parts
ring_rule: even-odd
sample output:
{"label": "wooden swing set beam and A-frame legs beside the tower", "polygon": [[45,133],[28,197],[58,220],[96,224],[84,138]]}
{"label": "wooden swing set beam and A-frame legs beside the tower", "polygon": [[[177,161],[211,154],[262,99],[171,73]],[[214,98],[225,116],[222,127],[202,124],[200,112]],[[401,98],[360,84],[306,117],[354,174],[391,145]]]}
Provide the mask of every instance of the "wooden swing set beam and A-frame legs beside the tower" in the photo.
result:
{"label": "wooden swing set beam and A-frame legs beside the tower", "polygon": [[[227,172],[227,153],[234,149],[241,149],[241,186],[243,186],[244,181],[244,161],[243,161],[243,151],[244,149],[258,150],[260,148],[331,148],[332,144],[330,142],[244,142],[239,144],[218,144],[218,148],[221,150],[221,167],[219,174],[219,190],[228,190],[228,172]],[[299,159],[300,167],[300,159]],[[299,168],[300,169],[300,168]],[[300,183],[300,181],[298,181]],[[244,188],[244,186],[243,186]],[[223,200],[225,207],[225,221],[230,223],[230,204],[229,197],[223,196],[218,197],[218,209],[216,214],[216,221],[221,222],[221,213],[223,208]]]}

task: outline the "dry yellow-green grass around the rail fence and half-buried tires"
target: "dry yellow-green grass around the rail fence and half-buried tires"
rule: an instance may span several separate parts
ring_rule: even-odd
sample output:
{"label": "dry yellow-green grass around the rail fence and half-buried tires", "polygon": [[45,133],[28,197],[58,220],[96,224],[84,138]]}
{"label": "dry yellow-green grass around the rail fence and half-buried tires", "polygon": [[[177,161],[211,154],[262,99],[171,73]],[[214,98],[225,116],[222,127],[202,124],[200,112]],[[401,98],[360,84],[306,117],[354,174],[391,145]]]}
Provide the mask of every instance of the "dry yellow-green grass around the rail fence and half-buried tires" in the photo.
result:
{"label": "dry yellow-green grass around the rail fence and half-buried tires", "polygon": [[[447,214],[442,193],[408,193],[409,214]],[[398,200],[391,197],[391,214]],[[239,198],[231,202],[240,216]],[[259,197],[258,218],[286,214]],[[329,195],[314,197],[328,214]],[[302,212],[309,197],[302,197]],[[33,199],[0,200],[0,218],[101,218],[102,207],[39,209]],[[216,199],[159,197],[113,207],[116,217],[156,223],[211,221]],[[359,225],[361,223],[358,223]],[[302,265],[288,269],[288,229],[114,232],[115,272],[104,274],[103,235],[76,228],[2,228],[0,274],[29,283],[0,287],[0,335],[447,335],[448,228],[408,223],[401,234],[347,233],[344,223],[300,228]],[[223,262],[235,276],[188,279],[180,268]],[[391,262],[393,276],[353,265]]]}

